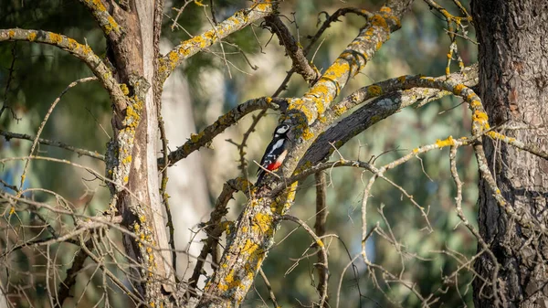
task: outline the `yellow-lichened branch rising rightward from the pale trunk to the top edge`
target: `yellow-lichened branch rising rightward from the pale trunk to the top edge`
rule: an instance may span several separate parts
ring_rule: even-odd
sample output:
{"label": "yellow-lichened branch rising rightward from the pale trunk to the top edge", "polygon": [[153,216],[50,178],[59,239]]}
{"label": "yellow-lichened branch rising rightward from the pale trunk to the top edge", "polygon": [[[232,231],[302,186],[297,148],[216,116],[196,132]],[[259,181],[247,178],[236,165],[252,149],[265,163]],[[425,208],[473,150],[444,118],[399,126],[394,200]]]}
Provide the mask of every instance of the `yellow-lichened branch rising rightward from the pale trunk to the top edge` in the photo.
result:
{"label": "yellow-lichened branch rising rightward from the pale trunk to the top edge", "polygon": [[209,48],[228,35],[248,27],[258,19],[269,16],[274,10],[273,3],[254,4],[249,8],[237,11],[233,16],[218,23],[216,27],[200,36],[182,41],[159,60],[158,74],[160,80],[166,80],[174,69],[183,63],[184,59],[194,56],[197,52]]}

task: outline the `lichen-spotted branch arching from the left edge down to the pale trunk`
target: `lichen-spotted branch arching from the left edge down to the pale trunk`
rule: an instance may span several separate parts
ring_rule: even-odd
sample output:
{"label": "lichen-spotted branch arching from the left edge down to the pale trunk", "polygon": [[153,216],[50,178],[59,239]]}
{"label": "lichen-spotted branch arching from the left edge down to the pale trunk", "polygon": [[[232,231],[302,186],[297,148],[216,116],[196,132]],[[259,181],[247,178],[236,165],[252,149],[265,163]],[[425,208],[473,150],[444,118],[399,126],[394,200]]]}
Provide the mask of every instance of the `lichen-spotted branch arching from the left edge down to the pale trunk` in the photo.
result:
{"label": "lichen-spotted branch arching from the left edge down to the pale trunk", "polygon": [[126,101],[120,84],[113,78],[111,69],[88,45],[82,45],[73,38],[48,31],[18,28],[0,29],[0,42],[18,40],[53,45],[84,61],[93,72],[93,75],[100,80],[101,85],[109,91],[112,101],[119,110],[125,109]]}

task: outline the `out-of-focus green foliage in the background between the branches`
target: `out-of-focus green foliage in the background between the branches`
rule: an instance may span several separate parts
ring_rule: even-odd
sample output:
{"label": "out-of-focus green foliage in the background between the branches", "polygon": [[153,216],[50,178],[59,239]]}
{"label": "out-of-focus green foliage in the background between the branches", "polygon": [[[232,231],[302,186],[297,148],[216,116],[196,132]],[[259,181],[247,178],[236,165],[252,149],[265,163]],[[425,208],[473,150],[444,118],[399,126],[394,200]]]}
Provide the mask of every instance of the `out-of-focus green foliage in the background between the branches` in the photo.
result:
{"label": "out-of-focus green foliage in the background between the branches", "polygon": [[[209,8],[190,4],[178,20],[180,27],[172,31],[173,20],[167,16],[173,18],[176,12],[171,8],[180,7],[183,3],[184,1],[174,1],[174,3],[166,5],[163,36],[174,44],[188,38],[188,34],[199,34],[204,29],[211,27],[210,21],[205,18],[205,13],[210,15]],[[248,5],[243,1],[215,1],[214,3],[217,21],[225,19],[237,9]],[[341,6],[358,6],[375,10],[381,3],[381,1],[364,3],[364,1],[357,0],[344,3],[332,0],[313,2],[291,0],[281,3],[280,13],[287,17],[282,20],[289,25],[293,33],[297,33],[298,30],[300,43],[306,46],[308,44],[307,36],[315,33],[318,20],[324,20],[324,16],[320,14],[321,11],[332,14]],[[442,1],[440,4],[448,8],[453,7],[451,1]],[[468,7],[467,2],[464,4]],[[457,14],[457,11],[454,13]],[[314,64],[319,69],[326,69],[332,60],[342,52],[343,48],[352,41],[362,25],[363,19],[358,16],[342,17],[340,23],[333,24],[312,48],[312,53],[315,55]],[[2,1],[0,2],[0,28],[7,27],[39,28],[63,33],[76,38],[79,42],[86,42],[104,57],[105,40],[100,29],[95,26],[88,12],[77,1]],[[444,27],[447,27],[446,23],[439,14],[429,10],[425,3],[416,1],[413,11],[407,14],[402,21],[402,29],[391,36],[391,39],[377,52],[375,58],[368,63],[364,72],[356,76],[348,87],[342,90],[341,97],[350,94],[359,87],[402,74],[443,75],[447,64],[446,54],[449,45]],[[470,31],[472,30],[470,27]],[[256,35],[258,40],[255,39]],[[473,33],[471,35],[473,36]],[[193,98],[197,130],[209,124],[205,116],[212,103],[205,95],[205,89],[208,87],[224,87],[227,90],[223,102],[224,110],[233,108],[237,103],[248,98],[272,94],[265,90],[268,87],[259,81],[262,80],[262,82],[270,84],[279,83],[282,79],[278,77],[285,76],[284,72],[290,69],[290,62],[283,57],[284,50],[279,47],[278,38],[273,37],[269,41],[270,36],[268,31],[261,29],[260,25],[256,25],[253,29],[248,27],[227,38],[227,43],[237,45],[246,53],[252,63],[271,64],[270,70],[267,71],[260,68],[258,71],[250,69],[246,58],[238,52],[239,49],[233,48],[229,44],[224,44],[227,58],[235,67],[250,72],[251,76],[232,68],[230,69],[232,78],[229,79],[224,59],[220,56],[221,48],[218,45],[210,48],[209,52],[189,58],[184,63],[182,69],[189,82]],[[269,47],[266,46],[266,42],[269,42]],[[477,53],[473,44],[458,38],[458,47],[465,63],[475,62]],[[267,48],[269,48],[269,53],[261,54]],[[276,52],[273,53],[272,50]],[[309,55],[308,58],[310,59],[311,56]],[[13,73],[10,73],[9,68],[13,61],[15,61],[14,70]],[[458,67],[453,65],[451,69],[457,70]],[[222,72],[225,76],[225,84],[216,85],[205,80],[205,72],[211,71]],[[50,103],[70,82],[87,76],[90,76],[89,69],[77,59],[71,58],[56,48],[23,42],[0,44],[0,100],[11,106],[17,116],[22,119],[17,121],[10,112],[4,112],[0,118],[0,129],[35,135],[39,122]],[[7,86],[8,83],[9,86]],[[282,95],[286,97],[300,96],[306,89],[307,85],[300,76],[294,76],[290,80],[288,89],[282,92]],[[422,144],[434,143],[437,139],[447,138],[448,135],[454,137],[468,135],[469,112],[465,105],[458,106],[459,103],[459,100],[446,98],[430,102],[419,109],[411,108],[395,114],[356,136],[352,142],[342,147],[340,154],[347,159],[359,158],[365,161],[374,156],[375,165],[384,165]],[[104,153],[105,143],[109,140],[108,135],[111,134],[110,117],[110,102],[107,93],[100,88],[97,82],[89,82],[70,90],[63,97],[42,136]],[[277,114],[269,112],[264,123],[258,126],[258,132],[252,135],[249,143],[264,143],[266,145],[277,118]],[[238,126],[240,132],[247,129],[245,126],[246,124]],[[104,128],[104,132],[101,127]],[[222,136],[217,138],[222,138]],[[12,140],[7,143],[2,140],[0,141],[0,157],[25,156],[28,154],[29,144],[30,142],[27,141]],[[264,145],[259,148],[264,148]],[[41,146],[39,154],[71,159],[79,164],[104,170],[102,163],[84,157],[76,157],[65,150],[54,147]],[[237,157],[236,148],[231,155]],[[258,160],[260,155],[261,153],[258,151],[249,151],[248,161]],[[334,159],[338,158],[337,155],[333,154]],[[209,156],[205,155],[204,157],[205,164],[208,164],[206,159]],[[395,273],[396,276],[400,276],[401,273],[402,280],[416,283],[416,289],[421,294],[427,296],[430,293],[435,293],[435,296],[440,299],[434,306],[470,306],[472,305],[469,284],[471,275],[468,271],[459,272],[458,280],[453,279],[447,283],[442,280],[443,275],[449,275],[456,271],[459,263],[447,253],[439,251],[454,250],[468,258],[476,251],[475,239],[462,225],[458,224],[459,220],[454,209],[456,188],[451,180],[448,165],[448,150],[443,150],[422,155],[420,160],[413,159],[387,173],[389,178],[414,197],[418,205],[425,208],[428,221],[433,228],[431,233],[425,230],[427,222],[421,216],[421,212],[406,196],[403,196],[394,186],[382,180],[377,181],[373,197],[368,205],[367,224],[369,228],[373,228],[378,223],[379,228],[382,228],[386,234],[393,234],[393,239],[401,243],[402,246],[395,246],[390,240],[374,235],[368,244],[368,254],[370,254],[371,260]],[[6,164],[2,173],[7,175],[10,168],[14,170],[17,167],[21,166],[14,163]],[[229,168],[233,170],[232,173],[235,176],[238,175],[237,162]],[[458,170],[465,183],[463,202],[465,214],[470,221],[475,221],[477,168],[471,149],[463,148],[458,151]],[[250,167],[250,173],[254,171],[254,167]],[[19,175],[13,172],[12,178],[8,180],[13,181],[10,183],[17,184]],[[44,187],[55,191],[81,210],[89,211],[90,214],[104,209],[105,202],[108,200],[106,188],[99,186],[97,181],[90,182],[89,174],[75,172],[74,168],[68,165],[35,162],[32,164],[30,176],[30,186]],[[327,230],[328,233],[338,237],[338,239],[328,240],[331,243],[329,253],[330,303],[332,305],[337,297],[336,290],[343,267],[350,261],[350,256],[354,256],[361,250],[361,201],[364,183],[368,178],[369,174],[349,168],[334,169],[328,175],[330,185],[327,198],[329,207]],[[313,183],[312,178],[301,183],[297,200],[291,210],[292,215],[304,220],[308,219],[310,225],[313,225],[315,208]],[[85,193],[90,193],[90,191],[93,191],[92,194],[95,196],[88,204],[90,198]],[[212,200],[215,199],[216,193],[217,191],[212,189]],[[43,201],[51,201],[54,198],[44,193],[37,193],[34,197]],[[239,200],[241,199],[238,198]],[[234,207],[237,207],[237,204]],[[37,218],[27,215],[26,212],[17,212],[16,215],[17,219],[5,215],[5,223],[13,224],[14,228],[18,230],[22,230],[22,226],[33,222],[41,223]],[[5,223],[2,228],[6,228]],[[71,222],[65,223],[69,225]],[[277,241],[284,239],[295,227],[291,223],[284,223],[277,235]],[[30,232],[29,236],[32,235]],[[40,236],[47,237],[47,234]],[[1,242],[2,245],[5,245],[5,239],[2,239]],[[310,243],[311,239],[308,235],[299,229],[274,246],[269,251],[269,258],[264,263],[263,269],[269,277],[279,304],[284,307],[300,306],[300,303],[310,305],[311,301],[317,298],[314,287],[318,281],[314,271],[314,263],[317,261],[315,256],[300,260],[299,265],[293,271],[286,275],[283,274],[294,264],[295,259],[300,258],[303,250]],[[66,252],[70,245],[60,244],[58,246],[62,247],[52,247],[50,253],[54,255],[58,254],[59,250],[63,250],[63,255],[58,260],[59,267],[62,269],[71,260],[71,253]],[[462,258],[462,256],[457,255],[457,258]],[[43,251],[34,250],[20,250],[16,255],[10,257],[12,265],[20,271],[16,277],[10,278],[11,282],[14,285],[34,283],[29,290],[26,290],[30,297],[34,297],[32,301],[34,306],[48,305],[47,301],[40,297],[44,292],[43,276],[31,283],[29,275],[27,275],[27,273],[36,275],[40,270],[32,266],[44,264],[43,259]],[[349,269],[342,279],[342,307],[392,306],[392,303],[386,300],[385,295],[375,289],[363,261],[358,259],[354,261],[354,264],[356,265],[355,271],[352,268]],[[5,279],[5,276],[2,278]],[[380,288],[395,302],[399,302],[405,307],[420,306],[416,296],[404,288],[401,283],[385,283],[382,274],[378,271],[376,278],[380,281]],[[92,281],[88,285],[90,279]],[[87,302],[82,302],[81,306],[96,303],[98,299],[92,286],[100,285],[100,274],[91,270],[86,271],[84,275],[79,276],[79,280],[81,283],[78,293],[84,292],[85,288],[86,298],[89,299]],[[245,305],[248,307],[264,305],[260,299],[261,296],[270,305],[267,289],[260,278],[256,279],[255,287],[256,289],[249,292]],[[462,298],[460,298],[460,294]],[[123,301],[123,299],[120,298],[119,301]],[[24,299],[20,299],[17,303],[20,306],[28,306]]]}

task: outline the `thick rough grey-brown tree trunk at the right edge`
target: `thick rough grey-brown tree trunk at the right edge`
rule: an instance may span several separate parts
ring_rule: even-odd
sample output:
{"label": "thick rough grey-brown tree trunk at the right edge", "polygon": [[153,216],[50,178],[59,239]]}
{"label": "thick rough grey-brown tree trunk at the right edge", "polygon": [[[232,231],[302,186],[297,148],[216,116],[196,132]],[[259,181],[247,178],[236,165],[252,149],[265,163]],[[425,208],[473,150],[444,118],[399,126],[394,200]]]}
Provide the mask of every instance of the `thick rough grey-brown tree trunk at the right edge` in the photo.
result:
{"label": "thick rough grey-brown tree trunk at the right edge", "polygon": [[[475,0],[479,88],[490,125],[525,143],[548,148],[548,3]],[[517,129],[516,129],[517,128]],[[548,307],[548,162],[506,143],[484,138],[490,171],[521,226],[497,205],[479,181],[479,232],[494,259],[483,253],[475,267],[476,307]],[[481,247],[479,247],[481,249]],[[496,281],[493,285],[492,281]]]}

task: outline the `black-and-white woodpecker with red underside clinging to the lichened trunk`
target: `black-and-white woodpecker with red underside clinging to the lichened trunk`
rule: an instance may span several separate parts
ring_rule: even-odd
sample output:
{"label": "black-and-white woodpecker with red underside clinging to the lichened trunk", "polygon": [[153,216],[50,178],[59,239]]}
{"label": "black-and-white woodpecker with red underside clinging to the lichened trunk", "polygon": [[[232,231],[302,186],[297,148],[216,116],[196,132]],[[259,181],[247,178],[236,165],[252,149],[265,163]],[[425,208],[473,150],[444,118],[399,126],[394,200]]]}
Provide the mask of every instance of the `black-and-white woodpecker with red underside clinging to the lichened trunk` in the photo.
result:
{"label": "black-and-white woodpecker with red underside clinging to the lichened trunk", "polygon": [[[272,141],[267,146],[265,154],[260,160],[260,165],[263,168],[269,171],[278,170],[279,166],[283,164],[283,160],[288,154],[288,149],[290,146],[290,139],[288,133],[290,132],[290,125],[281,124],[276,127]],[[262,180],[262,177],[266,174],[266,171],[263,168],[258,168],[257,170],[257,183],[258,185]]]}

